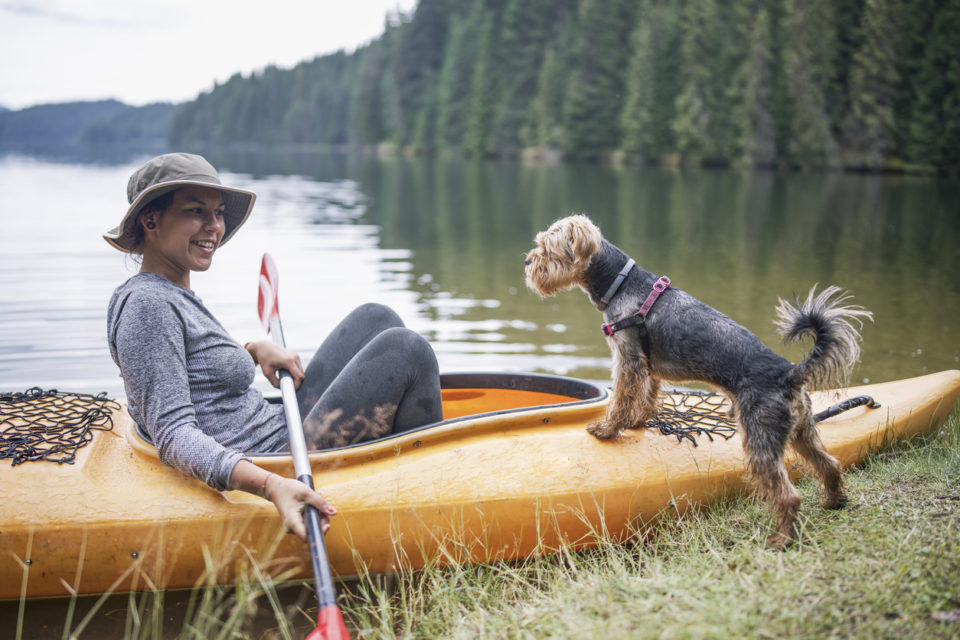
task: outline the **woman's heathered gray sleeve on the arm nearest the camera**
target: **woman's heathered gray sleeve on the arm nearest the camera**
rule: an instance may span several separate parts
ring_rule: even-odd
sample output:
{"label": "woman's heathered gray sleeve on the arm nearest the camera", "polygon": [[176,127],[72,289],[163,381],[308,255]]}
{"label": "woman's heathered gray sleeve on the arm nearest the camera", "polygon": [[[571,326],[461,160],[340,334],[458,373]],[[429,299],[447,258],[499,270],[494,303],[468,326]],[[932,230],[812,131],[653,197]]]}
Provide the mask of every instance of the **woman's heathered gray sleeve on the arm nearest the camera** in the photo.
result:
{"label": "woman's heathered gray sleeve on the arm nearest the camera", "polygon": [[153,438],[163,463],[215,489],[228,489],[242,455],[198,427],[187,374],[183,310],[173,300],[151,293],[131,292],[110,311],[111,350],[123,374],[131,415]]}

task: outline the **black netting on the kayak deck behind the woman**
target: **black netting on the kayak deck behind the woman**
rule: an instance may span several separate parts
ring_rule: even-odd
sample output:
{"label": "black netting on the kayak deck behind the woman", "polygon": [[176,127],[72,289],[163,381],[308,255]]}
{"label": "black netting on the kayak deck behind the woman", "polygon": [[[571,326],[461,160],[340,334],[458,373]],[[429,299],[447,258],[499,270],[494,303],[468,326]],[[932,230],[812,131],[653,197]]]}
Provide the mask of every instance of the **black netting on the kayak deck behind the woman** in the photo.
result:
{"label": "black netting on the kayak deck behind the woman", "polygon": [[0,459],[9,458],[12,466],[36,460],[73,464],[94,430],[113,429],[112,412],[119,408],[106,392],[0,392]]}

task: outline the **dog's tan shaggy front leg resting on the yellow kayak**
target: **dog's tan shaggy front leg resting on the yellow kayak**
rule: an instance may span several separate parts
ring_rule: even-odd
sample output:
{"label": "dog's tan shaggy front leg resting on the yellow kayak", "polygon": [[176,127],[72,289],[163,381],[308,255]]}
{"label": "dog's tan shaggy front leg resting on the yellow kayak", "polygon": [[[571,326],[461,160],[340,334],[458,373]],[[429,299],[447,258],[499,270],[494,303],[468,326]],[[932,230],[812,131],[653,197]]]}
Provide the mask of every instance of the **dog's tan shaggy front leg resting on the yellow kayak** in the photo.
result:
{"label": "dog's tan shaggy front leg resting on the yellow kayak", "polygon": [[657,415],[660,380],[650,374],[643,358],[625,357],[613,352],[613,391],[607,414],[593,422],[587,431],[601,440],[616,438],[624,429],[637,429]]}

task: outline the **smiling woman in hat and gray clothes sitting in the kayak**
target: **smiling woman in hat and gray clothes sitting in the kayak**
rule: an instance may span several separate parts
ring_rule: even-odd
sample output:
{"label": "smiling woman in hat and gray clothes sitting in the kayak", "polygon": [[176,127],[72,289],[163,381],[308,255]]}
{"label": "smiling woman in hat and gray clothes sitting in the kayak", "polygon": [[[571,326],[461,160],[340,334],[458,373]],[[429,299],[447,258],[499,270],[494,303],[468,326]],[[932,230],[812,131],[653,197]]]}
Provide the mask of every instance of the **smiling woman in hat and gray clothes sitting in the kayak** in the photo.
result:
{"label": "smiling woman in hat and gray clothes sitting in the kayak", "polygon": [[304,540],[301,508],[311,504],[326,532],[336,510],[322,495],[244,456],[287,449],[283,408],[252,388],[255,367],[274,386],[279,369],[291,373],[307,443],[325,448],[442,419],[432,349],[374,304],[353,311],[306,370],[297,354],[269,340],[241,346],[190,290],[190,273],[210,268],[256,195],[223,186],[202,157],[174,153],[138,169],[127,200],[126,215],[104,239],[142,256],[139,273],[114,291],[107,317],[130,415],[165,464],[215,489],[269,499]]}

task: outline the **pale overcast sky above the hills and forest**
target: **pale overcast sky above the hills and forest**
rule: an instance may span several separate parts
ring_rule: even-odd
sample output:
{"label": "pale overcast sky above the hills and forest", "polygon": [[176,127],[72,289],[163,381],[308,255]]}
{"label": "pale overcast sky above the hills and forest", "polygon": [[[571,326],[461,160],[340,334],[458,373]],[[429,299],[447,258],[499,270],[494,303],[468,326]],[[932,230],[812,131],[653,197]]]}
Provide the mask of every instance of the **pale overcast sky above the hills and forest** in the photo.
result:
{"label": "pale overcast sky above the hills and forest", "polygon": [[353,51],[416,0],[0,0],[0,106],[182,102]]}

